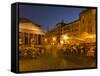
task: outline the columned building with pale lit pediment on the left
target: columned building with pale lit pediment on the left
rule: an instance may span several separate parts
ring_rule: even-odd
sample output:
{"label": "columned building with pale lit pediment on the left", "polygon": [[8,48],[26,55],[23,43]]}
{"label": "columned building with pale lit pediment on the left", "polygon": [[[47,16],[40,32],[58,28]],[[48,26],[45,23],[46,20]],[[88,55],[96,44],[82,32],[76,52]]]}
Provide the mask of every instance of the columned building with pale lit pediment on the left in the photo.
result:
{"label": "columned building with pale lit pediment on the left", "polygon": [[32,21],[21,18],[19,20],[19,45],[31,47],[32,45],[41,45],[44,43],[45,32]]}

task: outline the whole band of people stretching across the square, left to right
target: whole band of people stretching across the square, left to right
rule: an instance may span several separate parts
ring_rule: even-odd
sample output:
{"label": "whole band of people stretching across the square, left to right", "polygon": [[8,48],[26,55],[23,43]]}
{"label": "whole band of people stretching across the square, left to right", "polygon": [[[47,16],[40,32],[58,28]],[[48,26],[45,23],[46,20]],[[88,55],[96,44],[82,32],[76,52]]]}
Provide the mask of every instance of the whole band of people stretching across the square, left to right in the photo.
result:
{"label": "whole band of people stretching across the square, left to right", "polygon": [[51,51],[53,55],[60,56],[96,56],[96,44],[95,43],[81,43],[81,44],[63,44],[60,47],[57,45],[52,45],[47,48],[24,48],[23,50],[19,49],[19,54],[21,56],[40,56],[45,55]]}

